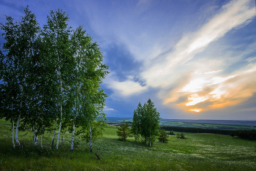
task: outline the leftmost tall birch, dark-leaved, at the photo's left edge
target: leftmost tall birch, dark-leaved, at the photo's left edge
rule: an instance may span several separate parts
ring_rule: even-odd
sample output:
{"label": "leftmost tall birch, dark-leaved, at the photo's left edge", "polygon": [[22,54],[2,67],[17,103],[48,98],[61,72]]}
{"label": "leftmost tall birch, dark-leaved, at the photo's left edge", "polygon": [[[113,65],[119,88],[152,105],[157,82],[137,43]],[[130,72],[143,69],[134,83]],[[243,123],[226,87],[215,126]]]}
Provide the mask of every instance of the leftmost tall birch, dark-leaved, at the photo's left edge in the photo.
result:
{"label": "leftmost tall birch, dark-leaved, at the photo's left edge", "polygon": [[[4,61],[5,93],[8,94],[7,99],[10,99],[11,104],[7,104],[6,107],[12,109],[12,125],[13,119],[17,119],[15,140],[18,148],[20,148],[18,140],[20,120],[28,118],[28,115],[24,115],[24,113],[32,108],[28,107],[33,94],[29,80],[34,74],[31,70],[31,61],[37,56],[37,47],[34,45],[39,30],[35,15],[31,13],[29,7],[26,7],[24,12],[25,16],[19,22],[13,22],[13,18],[6,17],[6,23],[1,24],[1,29],[4,30],[2,36],[6,40],[3,48],[7,50]],[[10,88],[7,88],[9,86]],[[15,114],[13,113],[14,108]]]}

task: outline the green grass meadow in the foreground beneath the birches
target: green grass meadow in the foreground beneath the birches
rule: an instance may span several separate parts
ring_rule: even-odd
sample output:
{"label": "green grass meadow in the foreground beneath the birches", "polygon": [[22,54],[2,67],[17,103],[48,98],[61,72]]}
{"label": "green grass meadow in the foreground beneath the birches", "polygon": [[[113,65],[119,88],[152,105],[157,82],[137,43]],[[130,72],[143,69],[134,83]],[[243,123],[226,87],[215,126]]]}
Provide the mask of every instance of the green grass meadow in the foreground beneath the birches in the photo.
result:
{"label": "green grass meadow in the foreground beneath the birches", "polygon": [[256,170],[256,142],[221,134],[185,133],[187,140],[170,136],[148,147],[134,138],[119,141],[116,127],[108,126],[93,144],[94,152],[102,153],[98,160],[83,142],[69,152],[68,132],[58,151],[50,149],[51,133],[44,135],[43,148],[35,149],[31,132],[20,132],[23,148],[14,150],[10,129],[0,121],[0,170]]}

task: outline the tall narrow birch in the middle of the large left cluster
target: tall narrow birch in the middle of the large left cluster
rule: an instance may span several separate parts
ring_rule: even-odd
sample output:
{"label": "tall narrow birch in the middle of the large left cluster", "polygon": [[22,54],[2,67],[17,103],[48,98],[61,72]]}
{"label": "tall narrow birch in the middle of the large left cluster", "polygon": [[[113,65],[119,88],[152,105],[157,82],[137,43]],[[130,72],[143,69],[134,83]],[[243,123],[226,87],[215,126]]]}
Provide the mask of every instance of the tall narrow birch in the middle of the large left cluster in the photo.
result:
{"label": "tall narrow birch in the middle of the large left cluster", "polygon": [[[50,11],[48,15],[47,25],[44,26],[43,41],[45,42],[45,52],[50,65],[54,68],[51,69],[50,75],[56,75],[56,80],[53,80],[53,86],[56,88],[53,98],[56,101],[56,123],[59,123],[59,132],[56,142],[56,149],[59,148],[59,137],[61,134],[61,122],[64,116],[63,105],[65,102],[65,95],[69,84],[69,78],[73,71],[73,56],[70,50],[70,28],[68,27],[69,18],[61,9],[55,12]],[[53,133],[53,140],[55,131]]]}

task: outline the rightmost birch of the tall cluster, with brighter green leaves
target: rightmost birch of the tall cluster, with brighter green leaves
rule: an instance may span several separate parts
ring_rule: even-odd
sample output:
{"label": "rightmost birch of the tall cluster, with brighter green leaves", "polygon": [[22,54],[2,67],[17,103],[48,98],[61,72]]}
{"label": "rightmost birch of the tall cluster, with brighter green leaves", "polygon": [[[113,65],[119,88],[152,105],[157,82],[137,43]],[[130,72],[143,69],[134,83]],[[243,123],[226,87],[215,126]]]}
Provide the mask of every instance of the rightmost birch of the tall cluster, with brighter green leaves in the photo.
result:
{"label": "rightmost birch of the tall cluster, with brighter green leaves", "polygon": [[[100,83],[108,74],[108,66],[102,63],[103,56],[99,45],[92,42],[83,27],[79,26],[72,35],[75,57],[75,83],[72,92],[75,94],[75,113],[72,125],[72,151],[75,140],[75,125],[83,126],[83,137],[89,134],[90,151],[91,142],[101,135],[102,121],[105,121],[106,94],[100,88]],[[79,121],[77,122],[77,118]],[[80,132],[81,133],[81,132]],[[99,135],[99,136],[98,136]]]}

